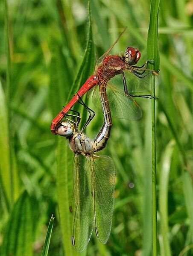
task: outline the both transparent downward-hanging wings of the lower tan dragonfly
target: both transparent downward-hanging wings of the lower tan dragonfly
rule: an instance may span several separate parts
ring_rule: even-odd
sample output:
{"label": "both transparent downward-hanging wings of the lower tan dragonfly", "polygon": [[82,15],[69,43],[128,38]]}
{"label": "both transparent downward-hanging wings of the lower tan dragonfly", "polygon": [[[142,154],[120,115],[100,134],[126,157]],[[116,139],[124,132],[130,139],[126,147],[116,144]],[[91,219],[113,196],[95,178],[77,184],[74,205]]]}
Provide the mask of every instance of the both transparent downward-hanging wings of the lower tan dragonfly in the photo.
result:
{"label": "both transparent downward-hanging wings of the lower tan dragonfly", "polygon": [[114,179],[115,167],[110,157],[75,156],[72,241],[78,252],[85,250],[94,227],[103,244],[109,238],[114,209]]}

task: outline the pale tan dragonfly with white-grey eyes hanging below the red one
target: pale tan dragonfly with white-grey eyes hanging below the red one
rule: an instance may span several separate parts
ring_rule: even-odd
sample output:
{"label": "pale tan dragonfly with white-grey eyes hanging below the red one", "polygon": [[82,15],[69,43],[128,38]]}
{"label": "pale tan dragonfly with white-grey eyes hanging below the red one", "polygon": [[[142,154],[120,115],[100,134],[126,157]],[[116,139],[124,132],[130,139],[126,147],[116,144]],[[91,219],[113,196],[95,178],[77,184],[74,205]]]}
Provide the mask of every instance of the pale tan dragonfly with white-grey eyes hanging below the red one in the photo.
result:
{"label": "pale tan dragonfly with white-grey eyes hanging below the red one", "polygon": [[[71,239],[79,253],[85,250],[93,230],[102,244],[108,241],[111,232],[115,166],[109,156],[96,153],[106,146],[112,126],[108,100],[102,103],[102,107],[104,123],[94,141],[83,132],[85,125],[78,130],[80,115],[72,109],[77,115],[67,114],[67,121],[62,121],[57,130],[58,135],[69,139],[70,150],[74,153],[73,192],[70,200],[70,212],[73,213]],[[73,117],[73,121],[68,117]]]}

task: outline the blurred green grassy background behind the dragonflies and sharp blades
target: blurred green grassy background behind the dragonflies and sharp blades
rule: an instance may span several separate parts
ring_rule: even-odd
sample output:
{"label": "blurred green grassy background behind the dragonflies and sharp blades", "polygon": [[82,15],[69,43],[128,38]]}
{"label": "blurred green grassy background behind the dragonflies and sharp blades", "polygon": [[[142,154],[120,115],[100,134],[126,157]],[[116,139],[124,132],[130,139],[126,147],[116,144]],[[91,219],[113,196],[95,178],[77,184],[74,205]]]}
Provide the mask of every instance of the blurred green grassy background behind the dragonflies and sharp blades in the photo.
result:
{"label": "blurred green grassy background behind the dragonflies and sharp blades", "polygon": [[[1,1],[0,252],[41,255],[53,214],[56,218],[48,255],[70,255],[65,248],[71,246],[71,238],[62,239],[58,214],[59,138],[51,134],[50,123],[67,103],[82,61],[88,32],[87,1],[9,0],[8,9],[11,64],[6,60],[7,29]],[[149,10],[150,1],[91,0],[97,56],[127,26],[113,53],[137,47],[142,55],[139,65],[143,64]],[[161,0],[158,34],[162,82],[156,88],[157,216],[159,255],[166,256],[193,255],[192,15],[192,0]],[[6,72],[8,77],[10,73],[10,83]],[[143,118],[113,118],[111,138],[102,151],[113,159],[117,172],[109,241],[102,245],[94,234],[84,255],[152,255],[151,100],[137,102]],[[88,106],[96,112],[86,132],[93,139],[102,126],[102,113],[91,99]],[[67,148],[67,141],[62,139]],[[73,153],[67,150],[71,165]],[[68,173],[71,177],[71,169]],[[71,255],[76,255],[75,250]]]}

